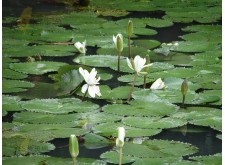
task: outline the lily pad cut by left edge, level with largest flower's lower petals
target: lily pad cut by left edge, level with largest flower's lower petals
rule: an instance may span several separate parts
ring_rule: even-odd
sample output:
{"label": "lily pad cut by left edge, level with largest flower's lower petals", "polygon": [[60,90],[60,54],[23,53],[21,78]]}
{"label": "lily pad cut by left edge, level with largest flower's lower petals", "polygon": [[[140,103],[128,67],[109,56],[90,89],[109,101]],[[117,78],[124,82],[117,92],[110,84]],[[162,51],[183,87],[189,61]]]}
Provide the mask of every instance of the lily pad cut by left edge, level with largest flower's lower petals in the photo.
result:
{"label": "lily pad cut by left edge, level with largest flower's lower petals", "polygon": [[2,79],[2,93],[15,93],[33,88],[34,84],[28,81]]}

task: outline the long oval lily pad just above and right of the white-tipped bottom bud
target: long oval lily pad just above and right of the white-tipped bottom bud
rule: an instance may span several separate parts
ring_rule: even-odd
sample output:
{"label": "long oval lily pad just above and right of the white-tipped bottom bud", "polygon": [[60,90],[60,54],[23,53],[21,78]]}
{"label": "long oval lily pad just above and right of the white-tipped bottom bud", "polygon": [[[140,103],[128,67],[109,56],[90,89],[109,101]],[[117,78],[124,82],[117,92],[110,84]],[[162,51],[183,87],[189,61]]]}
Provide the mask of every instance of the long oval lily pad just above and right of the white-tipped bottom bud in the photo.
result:
{"label": "long oval lily pad just above and right of the white-tipped bottom bud", "polygon": [[174,128],[187,124],[186,120],[175,118],[149,118],[149,117],[126,117],[122,120],[126,125],[138,128],[166,129]]}

